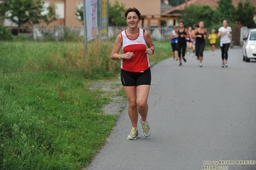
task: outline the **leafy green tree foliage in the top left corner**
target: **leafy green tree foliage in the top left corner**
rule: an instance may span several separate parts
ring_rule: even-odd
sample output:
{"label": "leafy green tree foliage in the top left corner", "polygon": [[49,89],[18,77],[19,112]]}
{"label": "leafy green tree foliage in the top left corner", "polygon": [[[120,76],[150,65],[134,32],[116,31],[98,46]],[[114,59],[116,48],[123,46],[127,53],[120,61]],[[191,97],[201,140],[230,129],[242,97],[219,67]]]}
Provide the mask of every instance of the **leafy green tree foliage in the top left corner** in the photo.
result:
{"label": "leafy green tree foliage in the top left corner", "polygon": [[[49,22],[56,20],[53,6],[49,6],[46,9],[44,2],[41,0],[2,0],[2,2],[4,8],[2,10],[6,14],[5,18],[17,24],[19,29],[26,23],[32,26],[42,21],[49,24]],[[48,10],[48,13],[42,15],[44,10]]]}

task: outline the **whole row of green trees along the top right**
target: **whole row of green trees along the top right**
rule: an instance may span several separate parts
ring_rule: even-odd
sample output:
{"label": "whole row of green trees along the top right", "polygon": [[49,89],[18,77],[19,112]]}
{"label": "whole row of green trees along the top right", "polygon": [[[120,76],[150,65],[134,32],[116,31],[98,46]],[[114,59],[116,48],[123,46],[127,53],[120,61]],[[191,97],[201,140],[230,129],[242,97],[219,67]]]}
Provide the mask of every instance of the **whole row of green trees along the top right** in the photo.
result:
{"label": "whole row of green trees along the top right", "polygon": [[217,9],[203,4],[187,6],[182,11],[181,19],[187,26],[192,26],[202,20],[205,26],[212,27],[226,19],[228,22],[250,28],[255,27],[255,20],[253,20],[255,9],[250,1],[239,1],[235,8],[232,0],[219,0]]}

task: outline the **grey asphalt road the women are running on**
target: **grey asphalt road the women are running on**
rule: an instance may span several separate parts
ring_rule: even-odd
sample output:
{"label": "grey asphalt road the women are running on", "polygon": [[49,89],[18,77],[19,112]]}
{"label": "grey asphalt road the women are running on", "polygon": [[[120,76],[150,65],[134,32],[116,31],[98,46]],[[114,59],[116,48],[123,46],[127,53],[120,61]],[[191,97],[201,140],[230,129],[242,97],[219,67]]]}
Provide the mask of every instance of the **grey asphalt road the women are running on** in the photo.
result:
{"label": "grey asphalt road the women are running on", "polygon": [[[256,160],[256,60],[245,63],[242,49],[228,53],[228,68],[221,68],[220,50],[215,56],[204,52],[202,68],[190,55],[180,67],[172,58],[153,66],[151,136],[143,137],[138,123],[139,137],[128,141],[132,127],[124,109],[108,142],[85,169],[197,170],[216,161],[223,169],[255,170],[255,164],[236,161]],[[220,165],[219,160],[235,164]]]}

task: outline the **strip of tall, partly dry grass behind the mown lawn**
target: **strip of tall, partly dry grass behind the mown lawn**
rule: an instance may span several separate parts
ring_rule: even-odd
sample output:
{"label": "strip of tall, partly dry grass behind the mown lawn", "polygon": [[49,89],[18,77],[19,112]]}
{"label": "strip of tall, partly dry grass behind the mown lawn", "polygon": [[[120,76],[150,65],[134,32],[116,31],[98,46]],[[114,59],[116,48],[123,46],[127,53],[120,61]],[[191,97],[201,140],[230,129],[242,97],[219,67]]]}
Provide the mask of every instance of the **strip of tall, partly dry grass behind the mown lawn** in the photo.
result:
{"label": "strip of tall, partly dry grass behind the mown lawn", "polygon": [[119,67],[110,59],[112,46],[94,40],[85,54],[83,42],[0,42],[0,70],[2,73],[54,70],[91,79],[112,77]]}

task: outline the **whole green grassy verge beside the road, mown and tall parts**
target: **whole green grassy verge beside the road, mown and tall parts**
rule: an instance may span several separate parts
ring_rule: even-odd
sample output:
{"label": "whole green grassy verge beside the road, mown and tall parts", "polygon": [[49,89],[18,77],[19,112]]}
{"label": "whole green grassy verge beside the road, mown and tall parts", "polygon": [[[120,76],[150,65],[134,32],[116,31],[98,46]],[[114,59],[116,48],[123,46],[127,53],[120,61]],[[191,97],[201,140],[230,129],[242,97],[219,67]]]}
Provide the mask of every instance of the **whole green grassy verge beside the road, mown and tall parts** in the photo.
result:
{"label": "whole green grassy verge beside the road, mown and tall parts", "polygon": [[[171,57],[154,42],[151,65]],[[81,169],[105,143],[117,115],[103,114],[110,96],[97,80],[113,81],[114,41],[0,42],[0,169]],[[115,89],[117,84],[113,84]],[[122,109],[122,108],[121,108]]]}

